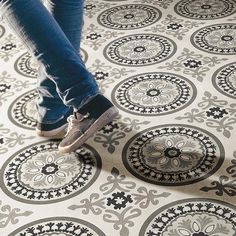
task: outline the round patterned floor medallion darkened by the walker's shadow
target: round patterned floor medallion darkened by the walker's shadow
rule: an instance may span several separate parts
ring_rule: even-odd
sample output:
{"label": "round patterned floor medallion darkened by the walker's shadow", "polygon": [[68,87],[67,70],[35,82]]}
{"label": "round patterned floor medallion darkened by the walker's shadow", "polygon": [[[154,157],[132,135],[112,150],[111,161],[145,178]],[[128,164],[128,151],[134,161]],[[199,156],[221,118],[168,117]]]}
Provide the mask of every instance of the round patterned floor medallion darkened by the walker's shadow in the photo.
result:
{"label": "round patterned floor medallion darkened by the walker's shadow", "polygon": [[215,173],[224,148],[209,132],[188,125],[155,126],[125,145],[122,159],[137,178],[158,185],[186,185]]}

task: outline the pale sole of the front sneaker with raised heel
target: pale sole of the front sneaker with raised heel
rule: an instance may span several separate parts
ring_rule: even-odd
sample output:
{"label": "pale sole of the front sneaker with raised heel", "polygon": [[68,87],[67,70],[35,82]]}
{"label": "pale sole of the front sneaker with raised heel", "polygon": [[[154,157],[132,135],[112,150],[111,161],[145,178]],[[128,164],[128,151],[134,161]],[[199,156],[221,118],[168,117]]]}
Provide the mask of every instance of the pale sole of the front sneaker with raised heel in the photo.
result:
{"label": "pale sole of the front sneaker with raised heel", "polygon": [[118,110],[116,107],[109,108],[106,112],[104,112],[85,132],[80,138],[76,139],[71,145],[66,147],[58,146],[58,150],[60,153],[68,153],[78,149],[82,146],[85,141],[90,138],[94,133],[103,128],[105,125],[110,123],[117,115]]}

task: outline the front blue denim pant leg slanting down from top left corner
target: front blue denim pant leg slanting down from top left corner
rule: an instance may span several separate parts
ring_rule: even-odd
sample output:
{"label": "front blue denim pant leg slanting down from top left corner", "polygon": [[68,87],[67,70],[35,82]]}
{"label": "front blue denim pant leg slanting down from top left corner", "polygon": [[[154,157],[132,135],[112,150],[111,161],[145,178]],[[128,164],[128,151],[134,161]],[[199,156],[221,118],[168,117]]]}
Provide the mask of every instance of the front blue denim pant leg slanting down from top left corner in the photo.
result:
{"label": "front blue denim pant leg slanting down from top left corner", "polygon": [[42,63],[66,106],[77,109],[99,92],[78,52],[40,0],[0,0],[0,5],[3,17]]}

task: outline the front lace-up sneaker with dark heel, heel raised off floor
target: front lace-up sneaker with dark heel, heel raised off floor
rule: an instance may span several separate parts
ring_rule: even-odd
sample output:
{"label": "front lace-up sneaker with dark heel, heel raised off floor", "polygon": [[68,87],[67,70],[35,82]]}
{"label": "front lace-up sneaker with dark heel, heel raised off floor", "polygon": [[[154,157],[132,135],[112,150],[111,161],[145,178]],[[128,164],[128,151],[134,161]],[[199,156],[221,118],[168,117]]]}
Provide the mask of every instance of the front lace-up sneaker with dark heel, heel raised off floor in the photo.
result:
{"label": "front lace-up sneaker with dark heel, heel raised off floor", "polygon": [[68,118],[69,126],[58,149],[61,153],[79,148],[95,132],[110,123],[118,114],[114,105],[102,95],[97,95]]}

